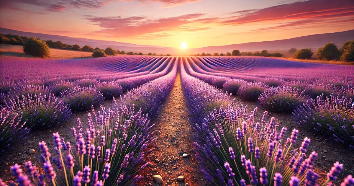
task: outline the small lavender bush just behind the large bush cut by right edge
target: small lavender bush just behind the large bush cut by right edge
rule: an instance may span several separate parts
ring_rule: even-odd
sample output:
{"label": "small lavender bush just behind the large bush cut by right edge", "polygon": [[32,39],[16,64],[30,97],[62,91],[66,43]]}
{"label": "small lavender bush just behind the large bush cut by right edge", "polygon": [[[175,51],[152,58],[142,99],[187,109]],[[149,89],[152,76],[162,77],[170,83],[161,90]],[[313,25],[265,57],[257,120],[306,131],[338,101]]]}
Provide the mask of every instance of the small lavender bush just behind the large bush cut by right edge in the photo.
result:
{"label": "small lavender bush just behind the large bush cut by right edge", "polygon": [[313,85],[308,85],[304,93],[315,99],[317,96],[321,96],[322,94],[325,96],[330,96],[337,91],[338,88],[332,84],[316,83]]}

